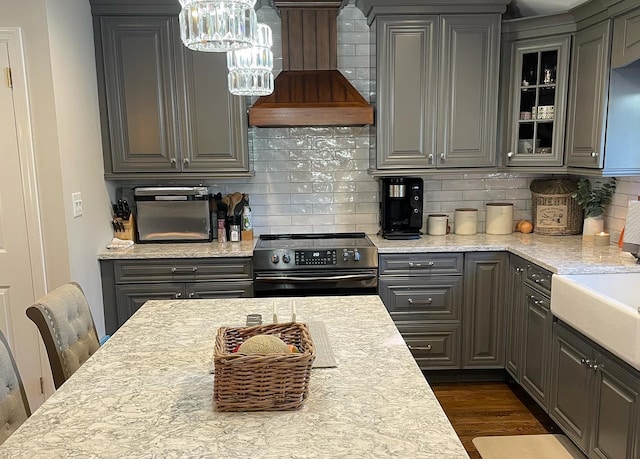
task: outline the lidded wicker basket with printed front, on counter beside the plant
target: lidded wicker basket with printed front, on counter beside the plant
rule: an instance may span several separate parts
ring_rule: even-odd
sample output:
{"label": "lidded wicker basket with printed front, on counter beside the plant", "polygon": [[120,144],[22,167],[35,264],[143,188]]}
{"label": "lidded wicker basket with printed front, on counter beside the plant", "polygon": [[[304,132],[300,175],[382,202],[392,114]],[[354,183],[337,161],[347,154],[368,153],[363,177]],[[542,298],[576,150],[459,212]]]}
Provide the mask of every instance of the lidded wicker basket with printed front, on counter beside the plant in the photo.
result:
{"label": "lidded wicker basket with printed front, on counter beside the plant", "polygon": [[582,232],[582,207],[571,197],[578,189],[577,180],[537,179],[531,182],[529,189],[534,232],[552,236]]}

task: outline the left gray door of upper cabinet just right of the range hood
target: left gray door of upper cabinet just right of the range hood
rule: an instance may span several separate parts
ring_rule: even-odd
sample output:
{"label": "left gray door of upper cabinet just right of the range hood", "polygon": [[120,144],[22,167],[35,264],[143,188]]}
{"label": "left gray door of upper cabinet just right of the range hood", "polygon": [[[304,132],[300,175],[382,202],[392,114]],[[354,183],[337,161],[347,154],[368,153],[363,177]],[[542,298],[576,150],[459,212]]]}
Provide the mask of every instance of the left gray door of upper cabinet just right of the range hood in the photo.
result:
{"label": "left gray door of upper cabinet just right of the range hood", "polygon": [[438,16],[378,18],[377,167],[434,167]]}

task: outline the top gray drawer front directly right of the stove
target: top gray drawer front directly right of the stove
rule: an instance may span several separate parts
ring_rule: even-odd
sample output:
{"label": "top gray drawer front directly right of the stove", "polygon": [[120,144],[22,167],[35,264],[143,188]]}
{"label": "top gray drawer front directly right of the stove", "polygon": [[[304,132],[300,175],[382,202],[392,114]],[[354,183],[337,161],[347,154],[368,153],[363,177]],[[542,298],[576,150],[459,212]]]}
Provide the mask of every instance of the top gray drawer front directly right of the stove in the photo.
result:
{"label": "top gray drawer front directly right of the stove", "polygon": [[380,255],[380,274],[462,274],[463,254]]}

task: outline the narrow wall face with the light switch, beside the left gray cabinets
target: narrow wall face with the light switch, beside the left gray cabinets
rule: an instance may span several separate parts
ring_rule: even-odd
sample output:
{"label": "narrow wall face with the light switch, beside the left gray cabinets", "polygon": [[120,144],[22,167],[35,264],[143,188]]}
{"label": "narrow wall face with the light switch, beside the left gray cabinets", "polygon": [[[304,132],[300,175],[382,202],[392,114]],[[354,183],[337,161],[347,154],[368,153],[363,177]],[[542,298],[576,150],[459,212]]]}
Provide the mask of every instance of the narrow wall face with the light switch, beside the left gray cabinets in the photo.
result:
{"label": "narrow wall face with the light switch, beside the left gray cabinets", "polygon": [[[89,2],[49,0],[47,22],[70,277],[84,289],[102,336],[104,311],[96,254],[113,234],[104,181]],[[83,201],[83,215],[76,218],[71,199],[74,192],[81,192]]]}

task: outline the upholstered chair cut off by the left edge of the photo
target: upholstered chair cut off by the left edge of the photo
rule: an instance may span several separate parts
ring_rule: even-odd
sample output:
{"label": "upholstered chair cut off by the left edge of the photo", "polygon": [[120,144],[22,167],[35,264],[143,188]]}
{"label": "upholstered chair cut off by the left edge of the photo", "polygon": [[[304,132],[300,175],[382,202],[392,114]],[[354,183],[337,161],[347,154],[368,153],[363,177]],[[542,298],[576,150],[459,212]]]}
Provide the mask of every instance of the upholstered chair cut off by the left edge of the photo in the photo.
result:
{"label": "upholstered chair cut off by the left edge of the photo", "polygon": [[27,393],[6,338],[0,332],[0,444],[31,416]]}

